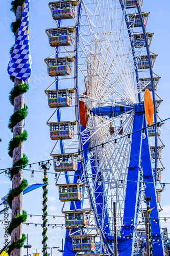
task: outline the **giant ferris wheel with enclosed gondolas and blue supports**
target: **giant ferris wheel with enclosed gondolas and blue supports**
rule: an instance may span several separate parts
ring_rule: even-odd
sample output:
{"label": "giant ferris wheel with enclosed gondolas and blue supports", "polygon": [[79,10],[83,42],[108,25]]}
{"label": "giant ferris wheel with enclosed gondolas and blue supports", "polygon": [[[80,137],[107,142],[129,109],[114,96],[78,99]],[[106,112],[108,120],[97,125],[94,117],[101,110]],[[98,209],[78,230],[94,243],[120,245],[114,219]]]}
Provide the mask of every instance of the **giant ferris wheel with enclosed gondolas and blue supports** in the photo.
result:
{"label": "giant ferris wheel with enclosed gondolas and blue supports", "polygon": [[[161,99],[149,13],[140,0],[64,0],[49,7],[57,27],[46,33],[56,52],[45,62],[55,81],[45,93],[56,108],[47,124],[57,141],[51,155],[64,202],[64,256],[114,255],[116,243],[117,255],[144,255],[147,242],[154,256],[163,256],[163,186],[155,181],[164,145],[160,125],[151,126]],[[147,207],[153,209],[146,224]]]}

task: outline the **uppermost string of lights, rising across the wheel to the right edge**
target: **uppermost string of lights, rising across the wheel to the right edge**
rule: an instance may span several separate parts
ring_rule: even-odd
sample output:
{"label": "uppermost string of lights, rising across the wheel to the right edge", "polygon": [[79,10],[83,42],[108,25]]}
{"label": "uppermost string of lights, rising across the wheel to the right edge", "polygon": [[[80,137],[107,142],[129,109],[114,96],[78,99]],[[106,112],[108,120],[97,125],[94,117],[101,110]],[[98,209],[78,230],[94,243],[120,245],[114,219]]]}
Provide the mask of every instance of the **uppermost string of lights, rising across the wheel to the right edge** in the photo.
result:
{"label": "uppermost string of lights, rising across the wheel to the right edge", "polygon": [[[82,150],[82,151],[79,151],[79,152],[75,152],[75,153],[71,153],[71,154],[80,154],[80,153],[83,152],[83,151],[92,150],[92,148],[94,148],[94,147],[103,146],[104,144],[107,144],[107,143],[110,143],[110,142],[116,143],[117,140],[123,139],[123,138],[125,138],[125,137],[127,137],[127,136],[129,137],[130,135],[132,135],[132,134],[134,134],[134,133],[137,133],[137,132],[140,132],[140,131],[142,131],[142,133],[144,133],[144,130],[145,130],[145,129],[148,129],[148,128],[150,128],[150,127],[152,127],[152,126],[155,126],[155,125],[157,125],[157,130],[160,131],[160,129],[161,129],[161,128],[160,128],[160,125],[161,125],[161,124],[164,124],[164,122],[167,121],[167,120],[169,120],[169,119],[170,119],[170,117],[168,117],[168,118],[162,120],[161,122],[153,123],[152,125],[149,125],[149,126],[147,126],[147,127],[143,127],[143,128],[140,129],[140,130],[134,131],[134,132],[132,132],[132,133],[128,133],[128,134],[126,134],[126,135],[124,135],[124,136],[121,136],[121,137],[119,137],[119,138],[117,138],[117,139],[109,140],[109,141],[104,142],[104,143],[102,143],[102,144],[95,145],[95,146],[86,148],[85,150]],[[157,131],[157,132],[158,132],[158,131]],[[48,159],[48,160],[43,160],[43,161],[35,162],[35,163],[31,163],[31,164],[29,163],[29,164],[27,164],[26,166],[28,166],[28,165],[34,165],[34,164],[39,164],[39,166],[40,166],[41,163],[46,162],[46,161],[49,163],[49,162],[52,161],[52,160],[53,160],[53,158],[52,158],[52,159]],[[0,169],[0,171],[3,170],[2,173],[4,173],[6,170],[9,170],[9,169],[11,169],[11,168],[17,168],[17,167],[21,167],[21,168],[22,168],[21,165],[18,165],[18,166],[15,166],[15,167],[8,167],[8,168]],[[0,173],[0,174],[2,174],[2,173]]]}

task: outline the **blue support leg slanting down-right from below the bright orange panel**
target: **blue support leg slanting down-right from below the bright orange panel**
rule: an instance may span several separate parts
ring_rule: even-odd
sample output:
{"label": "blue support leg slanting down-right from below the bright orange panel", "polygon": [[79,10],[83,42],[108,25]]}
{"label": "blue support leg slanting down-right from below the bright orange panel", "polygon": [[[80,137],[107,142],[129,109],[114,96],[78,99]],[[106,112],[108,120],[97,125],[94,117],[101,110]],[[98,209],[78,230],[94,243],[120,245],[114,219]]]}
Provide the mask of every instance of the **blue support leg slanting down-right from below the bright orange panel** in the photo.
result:
{"label": "blue support leg slanting down-right from below the bright orange panel", "polygon": [[[144,127],[145,126],[146,126],[146,122],[144,120]],[[151,210],[151,214],[150,214],[152,239],[155,239],[155,243],[153,244],[153,255],[164,256],[165,253],[164,253],[163,240],[161,236],[161,226],[160,226],[159,208],[158,208],[157,196],[156,196],[155,177],[152,169],[152,161],[150,156],[150,146],[149,146],[149,137],[148,137],[147,129],[145,129],[145,135],[146,135],[146,138],[142,140],[141,160],[142,160],[142,170],[143,170],[143,181],[151,182],[151,183],[145,183],[145,185],[147,186],[144,189],[145,196],[146,197],[151,196],[150,207],[151,209],[155,207],[153,210]],[[155,221],[154,221],[154,218],[155,218]],[[155,234],[157,234],[157,236]]]}

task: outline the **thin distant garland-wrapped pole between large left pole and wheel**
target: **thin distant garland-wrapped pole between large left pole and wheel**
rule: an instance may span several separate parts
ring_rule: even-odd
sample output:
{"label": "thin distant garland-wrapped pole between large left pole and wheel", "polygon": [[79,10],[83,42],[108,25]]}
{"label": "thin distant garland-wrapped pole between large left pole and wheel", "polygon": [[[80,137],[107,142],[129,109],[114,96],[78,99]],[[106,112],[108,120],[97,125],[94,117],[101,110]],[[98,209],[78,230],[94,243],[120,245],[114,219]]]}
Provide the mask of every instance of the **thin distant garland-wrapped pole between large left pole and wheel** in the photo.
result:
{"label": "thin distant garland-wrapped pole between large left pole and wheel", "polygon": [[48,193],[48,189],[46,188],[47,186],[47,183],[48,183],[48,178],[47,178],[47,169],[50,169],[50,163],[48,161],[48,163],[41,163],[41,167],[42,169],[44,169],[44,178],[42,179],[43,182],[44,182],[44,186],[42,187],[43,189],[43,201],[42,201],[42,205],[43,205],[43,208],[42,208],[42,211],[43,211],[43,216],[42,216],[42,220],[43,220],[43,224],[42,224],[42,228],[43,228],[43,232],[42,232],[42,236],[43,236],[43,240],[42,240],[42,244],[43,244],[43,247],[42,247],[42,253],[43,253],[43,256],[47,256],[47,245],[46,245],[46,241],[47,241],[47,236],[46,236],[46,232],[47,232],[47,227],[46,227],[46,223],[47,223],[47,219],[46,219],[46,216],[47,216],[47,193]]}

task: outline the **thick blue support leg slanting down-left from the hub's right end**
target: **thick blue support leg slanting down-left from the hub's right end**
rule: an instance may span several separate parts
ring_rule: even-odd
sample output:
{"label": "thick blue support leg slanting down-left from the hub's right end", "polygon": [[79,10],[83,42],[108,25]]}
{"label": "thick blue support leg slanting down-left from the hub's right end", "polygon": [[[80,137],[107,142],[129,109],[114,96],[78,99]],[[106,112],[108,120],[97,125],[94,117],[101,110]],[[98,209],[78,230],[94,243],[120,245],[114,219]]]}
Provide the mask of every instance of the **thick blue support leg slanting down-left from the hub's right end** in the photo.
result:
{"label": "thick blue support leg slanting down-left from the hub's right end", "polygon": [[[135,113],[133,122],[133,132],[141,130],[143,127],[144,115],[142,112]],[[141,131],[132,135],[130,163],[128,169],[124,225],[122,226],[122,240],[119,244],[119,256],[133,256],[134,252],[134,231],[137,215],[137,203],[140,179],[140,156],[141,156]],[[132,181],[132,182],[130,182]],[[123,234],[124,232],[124,234]],[[125,236],[125,239],[123,238]],[[129,238],[129,239],[128,239]]]}

